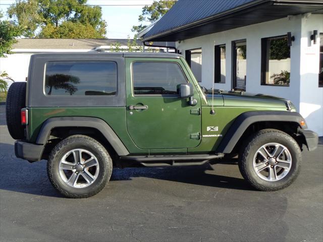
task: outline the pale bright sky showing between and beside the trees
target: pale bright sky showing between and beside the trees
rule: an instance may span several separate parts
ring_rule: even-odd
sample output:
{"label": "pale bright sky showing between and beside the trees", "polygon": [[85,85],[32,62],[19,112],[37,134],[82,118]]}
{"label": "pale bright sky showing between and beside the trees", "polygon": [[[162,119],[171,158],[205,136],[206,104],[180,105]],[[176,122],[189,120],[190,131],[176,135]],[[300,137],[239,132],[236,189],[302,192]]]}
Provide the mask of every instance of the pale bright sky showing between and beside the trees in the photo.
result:
{"label": "pale bright sky showing between and beside the trees", "polygon": [[[0,9],[6,15],[9,5],[15,0],[0,0]],[[145,5],[152,4],[153,0],[88,0],[88,5],[100,5],[102,8],[102,19],[107,22],[107,34],[109,39],[126,39],[133,25],[138,25],[138,16]],[[109,5],[109,6],[104,6]],[[131,5],[131,6],[130,6]]]}

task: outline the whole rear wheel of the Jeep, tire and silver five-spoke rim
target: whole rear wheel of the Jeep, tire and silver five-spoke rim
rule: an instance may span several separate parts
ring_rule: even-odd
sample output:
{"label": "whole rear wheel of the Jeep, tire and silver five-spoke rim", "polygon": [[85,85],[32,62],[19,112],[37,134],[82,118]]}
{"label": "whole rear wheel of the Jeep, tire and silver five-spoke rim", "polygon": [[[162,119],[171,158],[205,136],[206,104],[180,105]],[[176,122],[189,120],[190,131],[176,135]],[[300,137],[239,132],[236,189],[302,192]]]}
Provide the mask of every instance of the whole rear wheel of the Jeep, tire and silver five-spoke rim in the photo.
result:
{"label": "whole rear wheel of the Jeep, tire and silver five-spoke rim", "polygon": [[96,140],[74,135],[51,151],[47,172],[52,186],[68,198],[87,198],[110,180],[112,160]]}

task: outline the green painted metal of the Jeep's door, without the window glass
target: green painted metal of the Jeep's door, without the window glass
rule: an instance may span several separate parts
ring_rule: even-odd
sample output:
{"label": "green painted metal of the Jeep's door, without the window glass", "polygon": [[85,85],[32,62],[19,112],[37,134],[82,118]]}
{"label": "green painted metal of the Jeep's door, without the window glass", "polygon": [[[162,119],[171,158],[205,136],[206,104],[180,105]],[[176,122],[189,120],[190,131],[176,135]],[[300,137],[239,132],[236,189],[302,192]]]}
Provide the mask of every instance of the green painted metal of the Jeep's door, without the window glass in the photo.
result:
{"label": "green painted metal of the Jeep's door, without the window glass", "polygon": [[[197,90],[194,92],[194,98],[197,100],[194,107],[188,104],[188,98],[183,99],[178,95],[134,95],[131,66],[132,63],[143,61],[177,63],[186,78],[188,76],[181,59],[126,59],[126,116],[130,137],[142,149],[180,149],[198,146],[200,139],[191,138],[192,134],[201,132],[201,115],[191,112],[192,109],[201,107]],[[189,79],[187,82],[192,80]],[[131,105],[147,106],[147,109],[131,110],[129,108]]]}

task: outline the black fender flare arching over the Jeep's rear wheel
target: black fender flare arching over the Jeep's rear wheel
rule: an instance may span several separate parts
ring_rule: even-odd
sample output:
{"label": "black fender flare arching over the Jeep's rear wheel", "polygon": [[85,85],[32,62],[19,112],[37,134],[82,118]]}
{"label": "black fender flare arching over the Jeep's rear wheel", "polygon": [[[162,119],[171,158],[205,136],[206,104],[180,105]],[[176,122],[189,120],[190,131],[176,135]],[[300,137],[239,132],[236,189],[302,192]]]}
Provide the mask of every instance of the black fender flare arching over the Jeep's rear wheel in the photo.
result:
{"label": "black fender flare arching over the Jeep's rear wheel", "polygon": [[96,117],[51,117],[48,118],[41,126],[36,144],[44,145],[47,143],[50,132],[58,127],[87,127],[98,130],[119,156],[129,155],[129,151],[113,131],[102,119]]}

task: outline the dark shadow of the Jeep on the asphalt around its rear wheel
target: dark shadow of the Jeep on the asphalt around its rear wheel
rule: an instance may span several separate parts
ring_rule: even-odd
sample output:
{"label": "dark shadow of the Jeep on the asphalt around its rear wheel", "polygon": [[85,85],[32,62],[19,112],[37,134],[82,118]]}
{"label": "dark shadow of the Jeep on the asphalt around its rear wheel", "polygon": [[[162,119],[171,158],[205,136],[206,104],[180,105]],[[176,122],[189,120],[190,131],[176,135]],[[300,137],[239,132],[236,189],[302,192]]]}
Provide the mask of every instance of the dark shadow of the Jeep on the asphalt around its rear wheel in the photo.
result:
{"label": "dark shadow of the Jeep on the asphalt around its rear wheel", "polygon": [[[28,161],[16,158],[14,145],[12,144],[1,143],[0,150],[2,153],[0,158],[0,168],[2,170],[1,190],[48,197],[62,197],[49,183],[45,161],[30,164]],[[217,167],[217,165],[214,167]],[[214,170],[209,164],[182,167],[114,168],[111,181],[148,177],[199,186],[253,190],[242,178],[213,173]]]}

